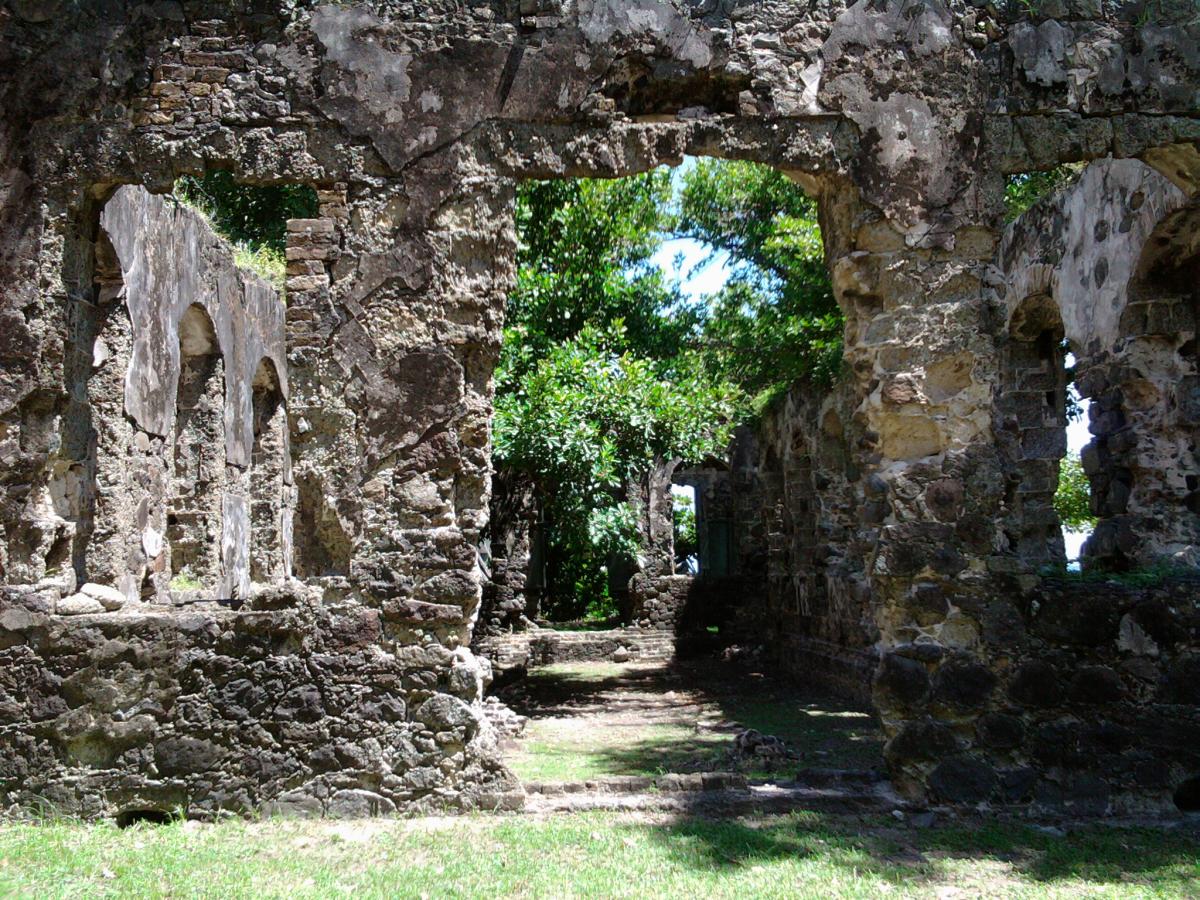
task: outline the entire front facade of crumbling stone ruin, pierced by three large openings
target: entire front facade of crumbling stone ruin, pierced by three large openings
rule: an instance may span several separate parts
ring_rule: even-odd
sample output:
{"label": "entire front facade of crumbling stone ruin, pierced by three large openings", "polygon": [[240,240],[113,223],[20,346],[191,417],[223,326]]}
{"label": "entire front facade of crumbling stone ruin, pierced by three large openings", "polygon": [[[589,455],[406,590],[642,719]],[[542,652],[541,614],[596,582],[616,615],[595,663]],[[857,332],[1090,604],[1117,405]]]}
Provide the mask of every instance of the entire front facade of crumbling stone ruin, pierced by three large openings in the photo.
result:
{"label": "entire front facade of crumbling stone ruin, pierced by three large openings", "polygon": [[[1195,698],[1178,688],[1196,659],[1186,592],[1105,607],[1121,613],[1127,641],[1157,648],[1139,656],[1142,680],[1108,637],[1076,640],[1108,618],[1028,624],[1050,620],[1048,605],[1070,592],[1026,593],[1037,587],[1018,550],[1027,529],[1006,521],[1015,463],[1000,436],[1008,294],[997,262],[1006,173],[1108,155],[1140,158],[1181,192],[1171,246],[1187,246],[1195,230],[1178,216],[1194,209],[1200,175],[1194,25],[1168,5],[1144,17],[1140,4],[1074,0],[1033,20],[900,0],[296,6],[14,0],[0,11],[5,808],[114,815],[182,804],[212,815],[511,802],[479,712],[486,665],[466,644],[481,593],[514,185],[625,175],[684,154],[776,166],[818,200],[847,316],[839,416],[852,436],[846,485],[828,488],[852,505],[838,506],[830,546],[844,550],[824,590],[868,592],[836,602],[866,604],[878,632],[872,696],[898,784],[935,799],[1070,809],[1091,797],[1087,809],[1116,810],[1168,805],[1200,772],[1188,749]],[[118,428],[114,448],[132,428],[112,390],[74,390],[88,366],[72,323],[96,298],[94,270],[115,274],[94,262],[103,257],[95,222],[120,185],[163,193],[180,174],[212,168],[312,185],[323,199],[320,218],[292,239],[277,366],[296,580],[248,592],[239,610],[216,602],[232,596],[176,608],[151,576],[154,590],[138,590],[145,611],[61,616],[47,600],[55,588],[40,584],[62,552],[42,534],[40,498],[62,462],[82,461],[71,442],[89,412]],[[1182,296],[1193,257],[1169,259],[1186,271],[1162,283]],[[1145,388],[1130,380],[1134,364],[1181,329],[1134,319],[1138,341],[1088,356],[1105,374],[1086,390],[1099,415],[1128,407],[1124,421],[1169,425],[1178,448],[1187,415],[1164,422],[1128,398]],[[1180,485],[1156,481],[1117,421],[1093,422],[1105,443],[1090,472],[1112,517],[1146,518]],[[234,424],[222,427],[228,452]],[[110,472],[100,449],[96,472]],[[229,484],[240,464],[209,470]],[[798,533],[802,512],[787,510]],[[1153,546],[1182,550],[1189,520],[1164,521]],[[134,544],[127,569],[97,551],[104,534],[72,547],[71,568],[80,582],[113,578],[107,587],[127,596],[121,577],[144,581],[128,518],[119,510],[101,524],[120,532],[110,546]],[[780,534],[779,550],[803,559],[806,544]],[[144,542],[142,552],[151,556]],[[221,570],[241,571],[223,552]],[[796,583],[796,572],[774,572]],[[794,602],[779,596],[780,608]],[[1032,695],[1014,684],[1027,665],[1034,680],[1062,684],[1061,706],[1022,706]],[[1075,684],[1085,671],[1091,686]],[[1136,720],[1147,708],[1153,728]],[[1051,726],[1069,760],[1038,756]],[[1157,781],[1136,774],[1138,754],[1158,761]]]}

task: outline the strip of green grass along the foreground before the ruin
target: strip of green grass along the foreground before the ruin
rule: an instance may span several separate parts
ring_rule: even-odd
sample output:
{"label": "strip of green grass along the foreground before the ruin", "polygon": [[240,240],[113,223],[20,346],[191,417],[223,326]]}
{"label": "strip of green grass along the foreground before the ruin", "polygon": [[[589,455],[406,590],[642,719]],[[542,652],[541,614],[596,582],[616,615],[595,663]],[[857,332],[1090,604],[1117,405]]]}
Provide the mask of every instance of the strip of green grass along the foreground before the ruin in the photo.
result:
{"label": "strip of green grass along the foreground before the ruin", "polygon": [[1178,898],[1193,836],[796,814],[0,827],[0,895],[37,898]]}

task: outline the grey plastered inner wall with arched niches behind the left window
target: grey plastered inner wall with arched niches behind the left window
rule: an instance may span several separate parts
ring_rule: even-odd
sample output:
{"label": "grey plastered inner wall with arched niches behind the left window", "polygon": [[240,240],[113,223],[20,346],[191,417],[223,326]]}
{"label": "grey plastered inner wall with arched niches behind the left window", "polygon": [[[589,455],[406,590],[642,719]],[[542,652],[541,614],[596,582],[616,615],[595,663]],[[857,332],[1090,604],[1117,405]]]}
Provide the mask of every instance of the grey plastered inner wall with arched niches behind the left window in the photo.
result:
{"label": "grey plastered inner wall with arched niches behind the left window", "polygon": [[[263,454],[254,409],[288,394],[281,298],[198,214],[132,186],[100,215],[94,281],[71,311],[61,443],[28,500],[41,542],[8,542],[10,581],[54,600],[98,584],[110,610],[245,600],[253,504],[269,508],[271,552],[290,552],[287,433]],[[274,482],[252,482],[254,450]],[[282,562],[265,575],[284,577]]]}

